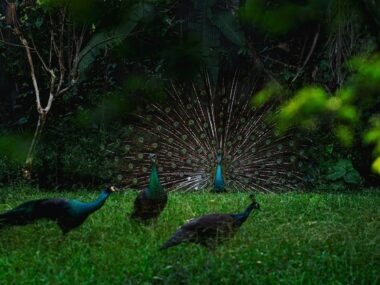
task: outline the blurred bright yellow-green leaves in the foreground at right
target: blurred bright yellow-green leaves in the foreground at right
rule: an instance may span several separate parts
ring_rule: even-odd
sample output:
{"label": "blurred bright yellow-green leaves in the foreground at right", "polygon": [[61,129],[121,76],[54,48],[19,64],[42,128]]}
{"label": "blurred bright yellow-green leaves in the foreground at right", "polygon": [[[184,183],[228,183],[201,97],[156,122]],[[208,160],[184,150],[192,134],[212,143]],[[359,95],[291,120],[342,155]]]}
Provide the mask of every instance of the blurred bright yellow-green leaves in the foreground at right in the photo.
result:
{"label": "blurred bright yellow-green leaves in the foreground at right", "polygon": [[[355,132],[364,136],[367,144],[375,145],[375,159],[380,152],[379,123],[372,112],[371,129],[365,131],[363,123],[366,118],[363,113],[379,104],[378,90],[380,87],[379,56],[355,58],[352,60],[356,73],[346,86],[338,89],[335,94],[328,96],[318,87],[305,87],[297,91],[292,98],[283,104],[277,115],[278,130],[283,132],[290,127],[302,126],[316,130],[324,118],[333,118],[335,124],[330,128],[345,147],[351,147],[355,142]],[[371,119],[369,119],[371,120]],[[363,122],[364,121],[364,122]],[[360,123],[360,124],[359,124]],[[367,122],[365,122],[367,123]],[[359,126],[359,127],[358,127]],[[377,164],[372,166],[375,172]]]}

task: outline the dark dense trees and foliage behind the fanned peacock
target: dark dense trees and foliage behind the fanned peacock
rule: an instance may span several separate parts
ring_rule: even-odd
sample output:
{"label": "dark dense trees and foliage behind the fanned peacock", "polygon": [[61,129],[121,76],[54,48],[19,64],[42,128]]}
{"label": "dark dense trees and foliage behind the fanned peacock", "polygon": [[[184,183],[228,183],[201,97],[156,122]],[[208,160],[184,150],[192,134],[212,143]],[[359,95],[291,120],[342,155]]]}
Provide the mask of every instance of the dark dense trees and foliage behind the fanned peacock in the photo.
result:
{"label": "dark dense trees and foliage behind the fanned peacock", "polygon": [[[115,179],[130,114],[166,87],[254,78],[310,138],[311,186],[379,183],[376,0],[2,1],[0,183]],[[253,95],[253,94],[252,94]],[[26,163],[25,163],[26,161]]]}

